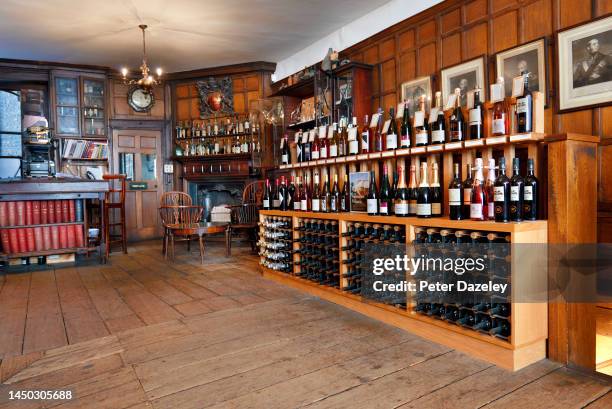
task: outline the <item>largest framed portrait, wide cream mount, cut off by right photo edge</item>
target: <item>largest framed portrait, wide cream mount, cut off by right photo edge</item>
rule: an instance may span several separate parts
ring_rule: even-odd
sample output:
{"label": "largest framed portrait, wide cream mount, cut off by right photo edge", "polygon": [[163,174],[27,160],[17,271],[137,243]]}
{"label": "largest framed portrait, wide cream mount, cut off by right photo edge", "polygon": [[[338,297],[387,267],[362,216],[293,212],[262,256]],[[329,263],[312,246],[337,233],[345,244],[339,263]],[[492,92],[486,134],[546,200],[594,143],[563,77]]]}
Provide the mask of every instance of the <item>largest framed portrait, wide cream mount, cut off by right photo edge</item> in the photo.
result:
{"label": "largest framed portrait, wide cream mount, cut off by right photo edge", "polygon": [[612,101],[612,15],[557,32],[559,111]]}

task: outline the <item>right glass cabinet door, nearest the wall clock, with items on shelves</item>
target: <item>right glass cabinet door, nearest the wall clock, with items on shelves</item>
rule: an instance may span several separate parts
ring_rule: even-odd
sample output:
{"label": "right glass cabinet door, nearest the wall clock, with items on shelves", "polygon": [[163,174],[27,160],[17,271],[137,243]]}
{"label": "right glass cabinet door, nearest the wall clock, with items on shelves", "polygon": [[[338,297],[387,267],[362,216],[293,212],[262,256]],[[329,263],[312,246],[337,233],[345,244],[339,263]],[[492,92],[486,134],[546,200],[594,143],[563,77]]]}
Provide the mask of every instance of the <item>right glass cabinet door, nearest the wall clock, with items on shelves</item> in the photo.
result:
{"label": "right glass cabinet door, nearest the wall clock, with items on shelves", "polygon": [[104,80],[82,78],[83,135],[106,136]]}

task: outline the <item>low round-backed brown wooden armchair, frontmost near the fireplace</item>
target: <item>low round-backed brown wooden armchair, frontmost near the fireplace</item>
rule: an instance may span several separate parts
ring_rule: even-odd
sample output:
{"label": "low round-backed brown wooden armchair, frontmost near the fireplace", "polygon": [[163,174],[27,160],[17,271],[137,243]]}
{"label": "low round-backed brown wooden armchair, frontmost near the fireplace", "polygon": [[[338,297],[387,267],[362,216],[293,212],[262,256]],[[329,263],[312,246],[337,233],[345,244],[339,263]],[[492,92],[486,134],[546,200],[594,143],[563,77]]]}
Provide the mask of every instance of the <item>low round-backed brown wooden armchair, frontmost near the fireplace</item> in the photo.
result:
{"label": "low round-backed brown wooden armchair, frontmost near the fireplace", "polygon": [[[191,238],[197,234],[197,229],[191,228],[189,225],[197,224],[202,220],[204,208],[201,206],[162,206],[159,208],[159,215],[162,224],[165,226],[168,234],[164,237],[164,257],[168,257],[168,253],[172,254],[174,259],[174,240],[179,237],[178,241],[191,241]],[[204,262],[204,243],[202,237],[199,237],[200,243],[200,259]],[[168,251],[170,250],[170,251]],[[188,247],[189,250],[189,247]]]}

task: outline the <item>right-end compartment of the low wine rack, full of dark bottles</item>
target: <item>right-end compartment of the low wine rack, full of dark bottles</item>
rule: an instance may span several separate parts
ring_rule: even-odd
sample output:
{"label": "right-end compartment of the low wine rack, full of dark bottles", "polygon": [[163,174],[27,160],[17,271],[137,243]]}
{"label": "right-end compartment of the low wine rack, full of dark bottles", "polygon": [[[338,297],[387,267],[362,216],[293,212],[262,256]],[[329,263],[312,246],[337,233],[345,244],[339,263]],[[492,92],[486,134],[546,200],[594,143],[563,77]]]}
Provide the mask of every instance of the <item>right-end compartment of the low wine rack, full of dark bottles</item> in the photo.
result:
{"label": "right-end compartment of the low wine rack, full of dark bottles", "polygon": [[[486,233],[479,231],[451,230],[439,228],[414,228],[413,244],[417,250],[416,257],[460,257],[462,252],[472,253],[472,256],[487,256],[489,266],[494,273],[492,279],[496,283],[511,285],[509,264],[511,261],[509,246],[496,246],[497,251],[491,249],[495,244],[509,244],[510,235],[507,233]],[[463,245],[460,247],[457,245]],[[466,249],[467,247],[467,249]],[[498,273],[498,274],[495,274]],[[452,281],[450,277],[441,277],[439,272],[420,271],[415,279]],[[448,297],[446,297],[448,296]],[[505,299],[496,299],[493,294],[486,294],[478,300],[455,299],[456,294],[424,293],[416,296],[413,310],[424,316],[458,325],[472,331],[493,336],[504,341],[510,340],[511,304]],[[451,301],[451,302],[449,302]]]}

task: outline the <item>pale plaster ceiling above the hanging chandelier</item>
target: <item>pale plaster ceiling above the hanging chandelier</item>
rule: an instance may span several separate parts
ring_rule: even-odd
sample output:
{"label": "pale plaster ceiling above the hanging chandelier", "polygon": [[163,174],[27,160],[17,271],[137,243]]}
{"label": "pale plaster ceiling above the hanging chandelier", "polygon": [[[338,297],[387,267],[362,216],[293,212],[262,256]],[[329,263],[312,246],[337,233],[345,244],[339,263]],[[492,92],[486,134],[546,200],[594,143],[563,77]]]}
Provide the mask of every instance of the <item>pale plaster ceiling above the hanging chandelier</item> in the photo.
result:
{"label": "pale plaster ceiling above the hanging chandelier", "polygon": [[388,1],[1,0],[0,58],[138,67],[147,24],[166,72],[276,62]]}

